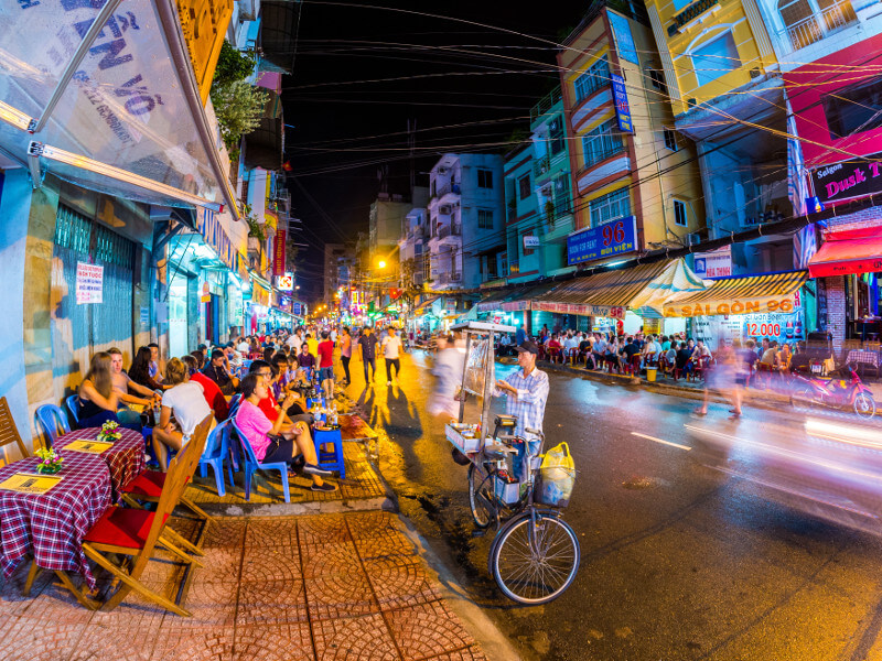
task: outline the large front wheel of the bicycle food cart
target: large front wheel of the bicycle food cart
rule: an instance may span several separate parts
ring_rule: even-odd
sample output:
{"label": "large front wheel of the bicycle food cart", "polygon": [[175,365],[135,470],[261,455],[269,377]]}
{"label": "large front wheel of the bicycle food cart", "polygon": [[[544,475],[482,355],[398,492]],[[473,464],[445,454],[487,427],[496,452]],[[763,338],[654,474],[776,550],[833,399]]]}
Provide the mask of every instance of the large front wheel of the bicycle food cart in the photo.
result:
{"label": "large front wheel of the bicycle food cart", "polygon": [[513,519],[493,544],[490,559],[496,585],[519,604],[558,598],[579,571],[579,540],[556,516],[527,511]]}

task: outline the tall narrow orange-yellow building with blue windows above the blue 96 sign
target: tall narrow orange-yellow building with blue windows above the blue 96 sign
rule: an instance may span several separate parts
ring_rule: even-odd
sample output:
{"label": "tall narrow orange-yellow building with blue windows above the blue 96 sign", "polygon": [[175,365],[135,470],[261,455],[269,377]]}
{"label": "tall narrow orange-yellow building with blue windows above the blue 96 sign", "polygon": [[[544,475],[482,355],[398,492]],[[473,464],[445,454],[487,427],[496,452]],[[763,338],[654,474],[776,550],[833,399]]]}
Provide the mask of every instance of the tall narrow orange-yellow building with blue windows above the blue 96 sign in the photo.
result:
{"label": "tall narrow orange-yellow building with blue windows above the blue 96 sign", "polygon": [[676,130],[642,6],[594,2],[558,64],[582,230],[568,238],[569,264],[695,241],[704,228],[695,149]]}

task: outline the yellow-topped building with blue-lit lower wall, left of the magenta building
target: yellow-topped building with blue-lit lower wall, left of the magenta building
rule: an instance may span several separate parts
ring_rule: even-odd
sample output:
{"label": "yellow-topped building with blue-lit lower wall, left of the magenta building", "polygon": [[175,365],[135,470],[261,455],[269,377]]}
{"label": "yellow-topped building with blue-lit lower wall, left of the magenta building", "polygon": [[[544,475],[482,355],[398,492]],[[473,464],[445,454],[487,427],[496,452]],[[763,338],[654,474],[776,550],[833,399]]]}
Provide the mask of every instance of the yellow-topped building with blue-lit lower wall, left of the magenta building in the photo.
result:
{"label": "yellow-topped building with blue-lit lower wall, left of the magenta building", "polygon": [[[664,73],[659,98],[698,147],[710,238],[790,216],[784,85],[757,0],[646,7]],[[792,246],[776,235],[736,243],[732,273],[790,269]]]}

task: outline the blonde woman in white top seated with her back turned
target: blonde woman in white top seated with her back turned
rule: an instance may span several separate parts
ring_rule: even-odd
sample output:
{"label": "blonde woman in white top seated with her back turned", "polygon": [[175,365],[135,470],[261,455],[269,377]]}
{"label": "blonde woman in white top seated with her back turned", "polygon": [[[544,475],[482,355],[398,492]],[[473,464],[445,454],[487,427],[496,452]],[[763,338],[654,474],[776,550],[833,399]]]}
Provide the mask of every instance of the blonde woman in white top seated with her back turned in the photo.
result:
{"label": "blonde woman in white top seated with her back turned", "polygon": [[169,465],[166,448],[180,451],[196,426],[212,414],[202,384],[190,380],[186,366],[178,358],[165,366],[164,382],[169,389],[162,394],[162,413],[153,427],[153,452],[163,472]]}

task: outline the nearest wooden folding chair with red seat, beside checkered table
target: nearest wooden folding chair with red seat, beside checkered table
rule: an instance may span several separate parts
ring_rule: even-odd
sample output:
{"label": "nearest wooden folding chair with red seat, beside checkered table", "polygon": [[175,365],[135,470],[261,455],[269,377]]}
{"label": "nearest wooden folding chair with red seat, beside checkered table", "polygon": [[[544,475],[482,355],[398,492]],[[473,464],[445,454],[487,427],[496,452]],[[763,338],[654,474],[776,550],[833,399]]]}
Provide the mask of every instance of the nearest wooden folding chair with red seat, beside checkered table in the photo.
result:
{"label": "nearest wooden folding chair with red seat, beside checkered table", "polygon": [[[191,565],[189,568],[192,565],[202,566],[195,557],[169,541],[169,533],[172,531],[166,523],[186,487],[187,478],[196,468],[205,447],[209,424],[211,416],[196,427],[186,447],[171,460],[155,511],[111,507],[83,539],[86,556],[120,582],[116,592],[101,606],[101,610],[112,610],[135,590],[166,610],[183,617],[192,615],[181,605],[151,590],[141,583],[140,577],[158,545]],[[173,537],[180,538],[178,533]],[[118,562],[115,555],[125,556],[128,561]]]}

